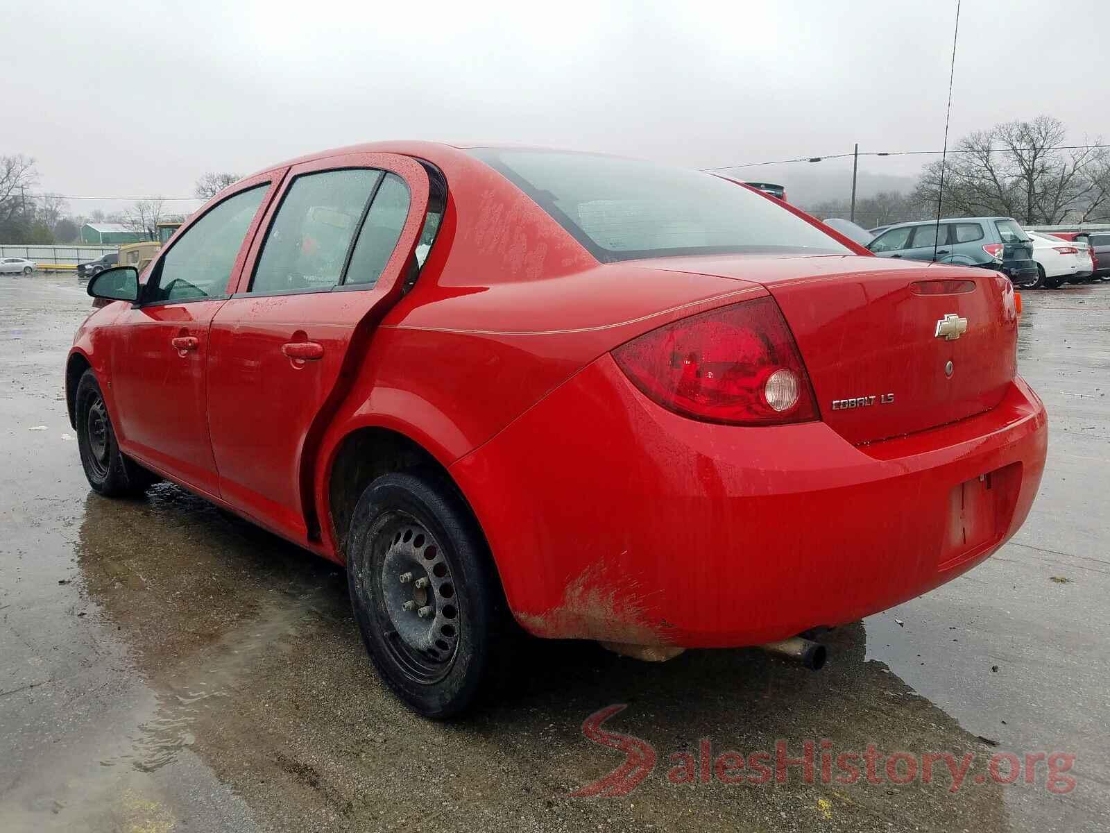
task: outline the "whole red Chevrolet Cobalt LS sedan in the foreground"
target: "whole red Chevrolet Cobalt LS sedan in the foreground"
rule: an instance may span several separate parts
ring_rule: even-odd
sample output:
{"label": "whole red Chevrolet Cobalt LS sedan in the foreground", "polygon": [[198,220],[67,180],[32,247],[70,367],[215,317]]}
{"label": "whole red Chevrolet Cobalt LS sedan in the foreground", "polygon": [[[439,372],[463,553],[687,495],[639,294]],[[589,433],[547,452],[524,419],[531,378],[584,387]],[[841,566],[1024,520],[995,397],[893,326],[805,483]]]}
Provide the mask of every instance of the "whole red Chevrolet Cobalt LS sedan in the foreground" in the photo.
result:
{"label": "whole red Chevrolet Cobalt LS sedan in the foreground", "polygon": [[327,151],[89,293],[65,390],[92,488],[171,480],[345,563],[432,716],[514,619],[666,658],[889,608],[995,552],[1045,464],[1003,275],[648,162]]}

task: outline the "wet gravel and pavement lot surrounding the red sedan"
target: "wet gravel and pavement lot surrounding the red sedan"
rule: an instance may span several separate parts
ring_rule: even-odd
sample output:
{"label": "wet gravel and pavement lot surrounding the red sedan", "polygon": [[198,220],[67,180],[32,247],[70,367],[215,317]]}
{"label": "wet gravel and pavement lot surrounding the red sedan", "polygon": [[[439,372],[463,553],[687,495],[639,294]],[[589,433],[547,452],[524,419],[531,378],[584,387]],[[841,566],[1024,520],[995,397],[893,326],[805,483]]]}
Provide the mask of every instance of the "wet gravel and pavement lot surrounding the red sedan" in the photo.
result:
{"label": "wet gravel and pavement lot surrounding the red sedan", "polygon": [[[1110,284],[1025,304],[1049,463],[995,558],[839,629],[820,673],[533,642],[496,705],[432,723],[374,675],[334,565],[173,485],[89,491],[61,392],[89,299],[72,277],[0,278],[0,830],[1107,830]],[[626,795],[574,796],[623,760],[582,732],[618,703],[606,729],[655,766]],[[824,777],[823,739],[831,761],[874,746],[875,783]],[[798,759],[806,741],[811,779],[702,765],[767,752],[774,770],[777,742]],[[908,783],[895,752],[917,755]],[[941,763],[925,782],[926,753],[972,756],[958,789]],[[1050,782],[1027,753],[1074,757]]]}

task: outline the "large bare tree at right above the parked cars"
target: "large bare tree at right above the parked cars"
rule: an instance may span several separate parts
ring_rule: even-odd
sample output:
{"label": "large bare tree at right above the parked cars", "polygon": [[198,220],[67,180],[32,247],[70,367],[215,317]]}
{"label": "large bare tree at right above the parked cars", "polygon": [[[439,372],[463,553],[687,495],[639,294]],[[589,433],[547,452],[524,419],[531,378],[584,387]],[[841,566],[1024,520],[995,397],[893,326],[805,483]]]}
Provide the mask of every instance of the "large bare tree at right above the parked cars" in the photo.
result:
{"label": "large bare tree at right above the parked cars", "polygon": [[[1051,224],[1098,212],[1110,198],[1098,187],[1107,151],[1066,150],[1061,147],[1066,143],[1063,123],[1050,116],[969,133],[948,160],[926,165],[914,198],[936,207],[942,177],[944,217],[1001,214]],[[1101,140],[1084,142],[1097,144]]]}

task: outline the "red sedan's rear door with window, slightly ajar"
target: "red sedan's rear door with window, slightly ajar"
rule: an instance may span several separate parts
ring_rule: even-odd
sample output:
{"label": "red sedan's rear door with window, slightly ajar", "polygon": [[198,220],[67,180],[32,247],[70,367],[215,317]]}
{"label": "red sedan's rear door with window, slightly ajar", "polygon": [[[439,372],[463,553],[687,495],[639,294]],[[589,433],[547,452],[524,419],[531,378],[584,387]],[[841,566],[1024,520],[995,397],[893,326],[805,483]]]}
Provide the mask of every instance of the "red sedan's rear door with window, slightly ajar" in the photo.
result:
{"label": "red sedan's rear door with window, slightly ajar", "polygon": [[310,532],[315,443],[373,328],[414,274],[427,202],[427,174],[408,157],[295,165],[212,322],[221,495],[294,540]]}

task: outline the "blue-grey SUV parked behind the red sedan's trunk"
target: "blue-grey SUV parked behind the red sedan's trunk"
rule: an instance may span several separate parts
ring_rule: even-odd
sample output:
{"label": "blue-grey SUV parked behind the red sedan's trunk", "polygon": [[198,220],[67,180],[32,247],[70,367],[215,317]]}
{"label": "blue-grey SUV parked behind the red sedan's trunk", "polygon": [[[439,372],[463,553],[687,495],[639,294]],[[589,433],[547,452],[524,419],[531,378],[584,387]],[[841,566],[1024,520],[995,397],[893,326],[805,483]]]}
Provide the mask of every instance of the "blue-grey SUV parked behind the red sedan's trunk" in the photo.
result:
{"label": "blue-grey SUV parked behind the red sedan's trunk", "polygon": [[997,269],[1017,287],[1037,283],[1033,244],[1010,217],[968,217],[891,225],[867,245],[880,258]]}

